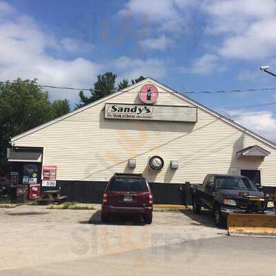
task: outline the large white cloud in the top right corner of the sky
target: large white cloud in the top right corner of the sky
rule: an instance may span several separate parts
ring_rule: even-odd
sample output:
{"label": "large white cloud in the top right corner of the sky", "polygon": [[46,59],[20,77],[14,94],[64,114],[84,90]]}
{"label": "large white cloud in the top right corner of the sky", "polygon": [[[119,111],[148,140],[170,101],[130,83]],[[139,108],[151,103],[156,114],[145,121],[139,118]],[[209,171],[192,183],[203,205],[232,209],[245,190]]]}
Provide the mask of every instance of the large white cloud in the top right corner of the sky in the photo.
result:
{"label": "large white cloud in the top right corner of the sky", "polygon": [[264,59],[275,55],[276,1],[205,1],[208,32],[219,34],[219,54],[226,58]]}

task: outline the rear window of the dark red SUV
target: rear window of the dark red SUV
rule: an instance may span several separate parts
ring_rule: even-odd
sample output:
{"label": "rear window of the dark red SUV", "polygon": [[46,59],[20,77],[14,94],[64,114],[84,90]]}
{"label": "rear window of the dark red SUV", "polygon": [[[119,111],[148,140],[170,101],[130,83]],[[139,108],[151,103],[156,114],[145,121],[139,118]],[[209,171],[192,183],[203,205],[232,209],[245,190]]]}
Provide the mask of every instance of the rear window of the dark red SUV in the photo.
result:
{"label": "rear window of the dark red SUV", "polygon": [[116,177],[110,182],[108,190],[116,192],[148,192],[143,178]]}

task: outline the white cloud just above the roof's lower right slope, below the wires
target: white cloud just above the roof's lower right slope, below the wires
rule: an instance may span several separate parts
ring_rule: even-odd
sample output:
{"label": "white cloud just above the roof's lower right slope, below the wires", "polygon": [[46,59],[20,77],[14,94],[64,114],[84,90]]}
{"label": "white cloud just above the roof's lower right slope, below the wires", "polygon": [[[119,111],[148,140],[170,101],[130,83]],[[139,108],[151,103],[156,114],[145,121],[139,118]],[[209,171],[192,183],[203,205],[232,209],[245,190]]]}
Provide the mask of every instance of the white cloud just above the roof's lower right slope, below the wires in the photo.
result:
{"label": "white cloud just above the roof's lower right slope, below the wires", "polygon": [[239,112],[234,119],[249,130],[276,141],[276,119],[273,118],[273,112]]}

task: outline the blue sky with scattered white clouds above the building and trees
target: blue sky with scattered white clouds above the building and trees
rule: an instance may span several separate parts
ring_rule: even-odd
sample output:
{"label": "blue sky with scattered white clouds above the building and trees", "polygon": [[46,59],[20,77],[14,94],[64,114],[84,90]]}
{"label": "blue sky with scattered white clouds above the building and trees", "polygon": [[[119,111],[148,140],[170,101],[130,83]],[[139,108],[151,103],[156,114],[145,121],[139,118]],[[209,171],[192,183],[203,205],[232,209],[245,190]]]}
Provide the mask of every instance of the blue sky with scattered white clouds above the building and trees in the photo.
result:
{"label": "blue sky with scattered white clouds above the building and trees", "polygon": [[[112,71],[179,92],[276,87],[259,70],[276,72],[275,14],[274,0],[0,0],[0,79],[90,88]],[[188,96],[221,110],[274,102],[275,93]],[[50,97],[79,101],[66,90]],[[271,105],[228,115],[275,141],[274,112]]]}

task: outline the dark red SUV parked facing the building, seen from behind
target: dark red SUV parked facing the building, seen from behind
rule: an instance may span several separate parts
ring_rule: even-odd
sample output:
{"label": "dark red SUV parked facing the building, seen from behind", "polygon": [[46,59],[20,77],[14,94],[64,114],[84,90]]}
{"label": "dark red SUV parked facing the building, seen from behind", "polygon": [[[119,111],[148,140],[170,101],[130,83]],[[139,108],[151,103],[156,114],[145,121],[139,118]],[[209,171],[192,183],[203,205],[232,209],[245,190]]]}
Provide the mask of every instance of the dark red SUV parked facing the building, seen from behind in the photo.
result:
{"label": "dark red SUV parked facing the building, seen from behind", "polygon": [[141,174],[115,173],[103,194],[101,221],[110,215],[142,215],[146,224],[152,223],[153,197],[150,186]]}

